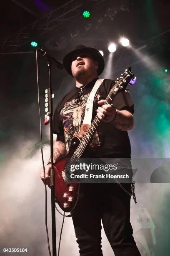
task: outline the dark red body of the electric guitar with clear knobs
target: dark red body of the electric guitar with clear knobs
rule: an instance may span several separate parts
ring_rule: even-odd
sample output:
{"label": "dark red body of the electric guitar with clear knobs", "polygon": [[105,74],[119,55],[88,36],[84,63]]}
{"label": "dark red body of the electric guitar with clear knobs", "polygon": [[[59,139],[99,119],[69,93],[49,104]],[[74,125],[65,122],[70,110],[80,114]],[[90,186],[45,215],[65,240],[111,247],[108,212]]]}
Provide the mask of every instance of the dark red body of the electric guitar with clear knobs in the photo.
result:
{"label": "dark red body of the electric guitar with clear knobs", "polygon": [[54,164],[55,172],[55,199],[60,208],[65,212],[71,212],[76,204],[79,190],[79,183],[67,184],[63,179],[62,172],[64,172],[67,159],[71,159],[78,145],[80,139],[77,137],[72,138],[69,153],[61,157]]}

